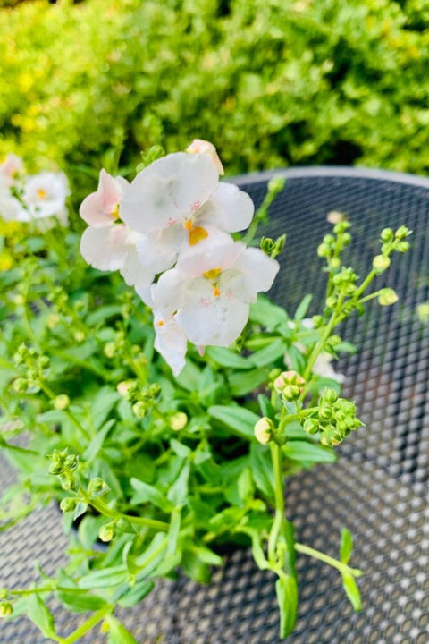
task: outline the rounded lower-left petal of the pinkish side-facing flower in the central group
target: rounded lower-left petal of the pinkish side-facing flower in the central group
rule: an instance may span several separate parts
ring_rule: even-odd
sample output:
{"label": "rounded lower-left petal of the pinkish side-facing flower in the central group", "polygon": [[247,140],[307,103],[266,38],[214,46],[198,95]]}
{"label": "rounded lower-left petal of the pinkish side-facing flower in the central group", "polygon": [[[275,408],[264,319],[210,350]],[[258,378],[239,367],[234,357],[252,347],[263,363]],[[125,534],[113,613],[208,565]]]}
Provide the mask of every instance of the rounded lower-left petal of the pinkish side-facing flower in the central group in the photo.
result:
{"label": "rounded lower-left petal of the pinkish side-facing flower in the central group", "polygon": [[82,257],[90,266],[99,270],[122,268],[128,250],[125,225],[111,225],[105,228],[89,226],[80,240]]}

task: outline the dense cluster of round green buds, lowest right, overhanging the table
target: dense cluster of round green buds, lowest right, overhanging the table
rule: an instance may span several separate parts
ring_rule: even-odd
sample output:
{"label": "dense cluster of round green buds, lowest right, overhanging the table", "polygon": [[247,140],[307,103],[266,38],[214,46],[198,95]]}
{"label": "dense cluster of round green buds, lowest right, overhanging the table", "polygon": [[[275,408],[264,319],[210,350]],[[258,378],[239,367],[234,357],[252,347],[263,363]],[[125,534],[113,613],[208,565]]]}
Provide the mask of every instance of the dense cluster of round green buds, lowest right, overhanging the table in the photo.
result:
{"label": "dense cluster of round green buds, lowest right, overhanging the table", "polygon": [[310,435],[320,432],[320,442],[333,447],[362,425],[356,417],[354,402],[339,398],[333,389],[325,389],[319,398],[317,411],[304,422],[304,429]]}

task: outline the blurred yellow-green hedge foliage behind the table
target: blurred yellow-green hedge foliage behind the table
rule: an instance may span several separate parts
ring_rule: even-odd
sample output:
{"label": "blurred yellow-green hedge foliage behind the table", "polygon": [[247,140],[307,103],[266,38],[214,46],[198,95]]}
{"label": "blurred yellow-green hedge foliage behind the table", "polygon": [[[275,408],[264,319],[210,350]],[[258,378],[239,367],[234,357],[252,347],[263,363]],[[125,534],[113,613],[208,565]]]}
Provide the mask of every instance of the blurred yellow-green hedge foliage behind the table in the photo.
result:
{"label": "blurred yellow-green hedge foliage behind the table", "polygon": [[213,140],[231,174],[429,173],[427,0],[87,0],[0,11],[0,154],[100,165]]}

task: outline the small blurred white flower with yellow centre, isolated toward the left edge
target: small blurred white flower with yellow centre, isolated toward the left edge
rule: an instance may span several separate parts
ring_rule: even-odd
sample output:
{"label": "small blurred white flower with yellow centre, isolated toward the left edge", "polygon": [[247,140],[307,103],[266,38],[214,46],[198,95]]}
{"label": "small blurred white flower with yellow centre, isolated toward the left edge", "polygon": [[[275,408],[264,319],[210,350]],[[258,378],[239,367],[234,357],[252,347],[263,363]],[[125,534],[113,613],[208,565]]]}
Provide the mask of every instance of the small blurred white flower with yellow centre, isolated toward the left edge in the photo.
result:
{"label": "small blurred white flower with yellow centre, isolated toward the left edge", "polygon": [[69,194],[69,182],[63,173],[42,172],[29,176],[22,194],[27,207],[25,220],[56,216],[62,225],[67,225],[65,200]]}

